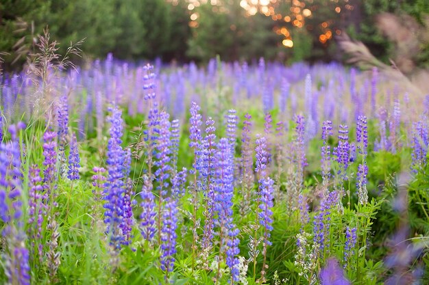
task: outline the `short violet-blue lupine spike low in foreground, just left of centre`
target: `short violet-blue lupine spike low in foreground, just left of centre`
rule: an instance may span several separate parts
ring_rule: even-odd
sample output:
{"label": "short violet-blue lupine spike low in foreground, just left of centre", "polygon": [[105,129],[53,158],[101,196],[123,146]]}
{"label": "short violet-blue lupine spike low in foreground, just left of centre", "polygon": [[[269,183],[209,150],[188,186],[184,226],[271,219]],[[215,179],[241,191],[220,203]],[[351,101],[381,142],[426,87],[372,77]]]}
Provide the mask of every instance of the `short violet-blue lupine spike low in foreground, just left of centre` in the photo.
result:
{"label": "short violet-blue lupine spike low in foreground, just left of centre", "polygon": [[162,219],[164,223],[161,228],[161,269],[172,272],[177,239],[175,232],[177,229],[177,201],[174,198],[167,198]]}

